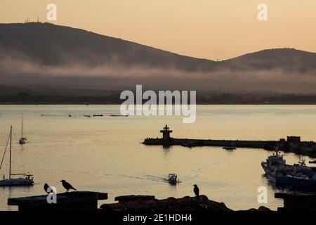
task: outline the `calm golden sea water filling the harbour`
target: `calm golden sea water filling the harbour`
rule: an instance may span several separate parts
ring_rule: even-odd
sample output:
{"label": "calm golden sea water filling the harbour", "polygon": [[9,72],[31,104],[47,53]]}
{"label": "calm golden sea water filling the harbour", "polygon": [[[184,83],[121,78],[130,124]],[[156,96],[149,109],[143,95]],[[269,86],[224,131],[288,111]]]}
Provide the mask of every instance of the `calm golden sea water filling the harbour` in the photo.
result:
{"label": "calm golden sea water filling the harbour", "polygon": [[[18,145],[21,113],[29,139],[25,146]],[[61,179],[79,191],[108,193],[109,199],[100,204],[129,194],[193,196],[192,185],[197,184],[200,193],[233,210],[258,207],[258,187],[266,186],[265,206],[276,210],[283,201],[274,198],[275,190],[260,165],[270,152],[242,148],[228,152],[217,147],[166,149],[141,142],[161,136],[159,130],[166,123],[173,129],[172,136],[179,138],[277,140],[298,135],[303,140],[316,140],[314,105],[198,105],[194,124],[183,124],[181,117],[82,116],[111,113],[119,113],[119,105],[0,105],[0,156],[13,125],[13,172],[30,172],[35,181],[27,188],[0,187],[0,210],[17,210],[7,205],[8,198],[44,194],[46,182],[63,192]],[[286,160],[294,163],[298,156],[287,154]],[[169,173],[177,173],[181,183],[169,185]],[[2,174],[8,174],[8,155]]]}

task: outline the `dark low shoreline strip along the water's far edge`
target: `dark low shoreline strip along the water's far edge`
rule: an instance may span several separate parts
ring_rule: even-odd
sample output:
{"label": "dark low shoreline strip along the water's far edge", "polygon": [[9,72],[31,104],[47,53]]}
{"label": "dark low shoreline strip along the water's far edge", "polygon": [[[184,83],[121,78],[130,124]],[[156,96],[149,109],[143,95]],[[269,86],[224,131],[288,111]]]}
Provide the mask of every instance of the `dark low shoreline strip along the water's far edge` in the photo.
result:
{"label": "dark low shoreline strip along the water's far edge", "polygon": [[[1,87],[1,86],[0,86]],[[119,105],[119,90],[4,87],[0,105]],[[143,104],[147,99],[143,99]],[[173,99],[174,102],[174,99]],[[190,99],[189,99],[190,102]],[[316,94],[233,93],[197,91],[197,105],[316,105]]]}

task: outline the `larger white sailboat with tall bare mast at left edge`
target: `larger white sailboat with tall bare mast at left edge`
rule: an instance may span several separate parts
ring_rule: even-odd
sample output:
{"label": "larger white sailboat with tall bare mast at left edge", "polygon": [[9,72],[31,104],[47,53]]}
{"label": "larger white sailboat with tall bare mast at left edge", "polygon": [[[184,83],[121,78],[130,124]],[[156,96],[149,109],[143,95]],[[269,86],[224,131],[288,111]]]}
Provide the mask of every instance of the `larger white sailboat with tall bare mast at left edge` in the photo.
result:
{"label": "larger white sailboat with tall bare mast at left edge", "polygon": [[[12,174],[11,173],[11,158],[12,158],[12,126],[10,129],[10,160],[9,160],[9,176],[8,179],[5,178],[0,180],[0,186],[32,186],[34,184],[33,175],[31,174]],[[8,143],[6,147],[8,146]],[[6,155],[6,149],[4,150],[4,156]],[[4,156],[1,161],[0,169],[2,162],[4,162]],[[12,176],[23,176],[19,178],[12,178]]]}

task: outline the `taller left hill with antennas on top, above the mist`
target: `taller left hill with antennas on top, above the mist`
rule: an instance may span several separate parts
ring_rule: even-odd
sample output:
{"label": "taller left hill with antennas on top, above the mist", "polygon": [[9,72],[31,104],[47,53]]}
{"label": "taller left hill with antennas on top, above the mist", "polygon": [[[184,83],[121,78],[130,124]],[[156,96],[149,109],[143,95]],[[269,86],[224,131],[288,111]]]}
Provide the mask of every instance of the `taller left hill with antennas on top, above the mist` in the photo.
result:
{"label": "taller left hill with antennas on top, above the mist", "polygon": [[21,54],[44,65],[119,63],[211,70],[215,64],[211,60],[180,56],[131,41],[51,23],[0,24],[0,46],[3,51]]}

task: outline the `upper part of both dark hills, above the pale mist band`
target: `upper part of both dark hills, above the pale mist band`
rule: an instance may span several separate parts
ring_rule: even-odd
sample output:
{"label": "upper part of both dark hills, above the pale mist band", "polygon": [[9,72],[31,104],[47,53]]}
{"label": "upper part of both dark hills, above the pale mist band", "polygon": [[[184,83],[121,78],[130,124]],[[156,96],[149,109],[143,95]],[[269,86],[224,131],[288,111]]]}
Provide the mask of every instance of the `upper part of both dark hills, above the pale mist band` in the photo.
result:
{"label": "upper part of both dark hills, above the pale mist band", "polygon": [[316,68],[316,53],[308,51],[268,49],[215,62],[51,23],[0,24],[0,46],[3,51],[20,53],[44,65],[79,61],[180,70],[284,68],[304,72]]}

